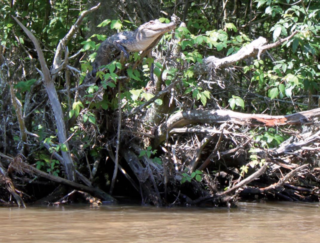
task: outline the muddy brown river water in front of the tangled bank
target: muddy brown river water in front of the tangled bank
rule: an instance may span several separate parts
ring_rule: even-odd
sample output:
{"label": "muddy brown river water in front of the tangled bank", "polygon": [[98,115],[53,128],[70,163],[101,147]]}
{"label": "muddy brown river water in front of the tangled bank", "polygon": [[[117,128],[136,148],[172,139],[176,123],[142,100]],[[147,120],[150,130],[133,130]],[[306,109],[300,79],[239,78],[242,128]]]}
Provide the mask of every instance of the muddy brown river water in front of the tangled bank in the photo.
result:
{"label": "muddy brown river water in front of the tangled bank", "polygon": [[319,205],[0,208],[0,242],[320,242]]}

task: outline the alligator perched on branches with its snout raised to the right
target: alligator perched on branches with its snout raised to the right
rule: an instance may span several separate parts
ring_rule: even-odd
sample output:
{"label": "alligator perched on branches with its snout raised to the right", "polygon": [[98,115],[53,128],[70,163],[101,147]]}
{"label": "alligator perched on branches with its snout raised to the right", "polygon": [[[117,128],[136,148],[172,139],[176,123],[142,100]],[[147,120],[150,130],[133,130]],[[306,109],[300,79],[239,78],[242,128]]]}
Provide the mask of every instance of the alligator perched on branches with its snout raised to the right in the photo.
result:
{"label": "alligator perched on branches with its snout raised to the right", "polygon": [[129,58],[129,51],[151,51],[162,35],[175,27],[174,21],[166,24],[159,20],[151,20],[134,31],[123,31],[108,37],[97,50],[91,77],[95,77],[99,67],[110,63],[121,51],[126,59]]}

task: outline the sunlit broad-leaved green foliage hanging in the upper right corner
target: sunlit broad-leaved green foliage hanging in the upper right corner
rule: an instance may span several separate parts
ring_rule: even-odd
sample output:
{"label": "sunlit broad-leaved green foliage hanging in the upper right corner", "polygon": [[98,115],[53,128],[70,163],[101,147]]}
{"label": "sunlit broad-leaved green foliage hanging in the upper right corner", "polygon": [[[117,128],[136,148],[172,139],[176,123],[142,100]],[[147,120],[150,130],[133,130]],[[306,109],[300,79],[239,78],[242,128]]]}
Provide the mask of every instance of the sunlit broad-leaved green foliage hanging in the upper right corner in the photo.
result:
{"label": "sunlit broad-leaved green foliage hanging in the upper right corner", "polygon": [[[284,43],[283,50],[278,53],[283,58],[277,60],[275,66],[268,65],[268,71],[255,70],[255,77],[261,84],[270,86],[268,97],[292,97],[294,93],[301,94],[303,90],[318,91],[319,63],[314,61],[314,56],[319,55],[319,4],[318,1],[304,4],[289,4],[292,1],[257,0],[257,8],[265,8],[265,15],[277,16],[276,23],[271,26],[273,41],[283,38],[293,31],[298,30],[288,42]],[[288,4],[284,8],[283,4]],[[287,49],[286,49],[287,48]],[[290,50],[292,48],[292,50]],[[286,55],[285,50],[289,50]],[[290,54],[292,53],[292,54]],[[290,57],[291,56],[291,57]],[[262,79],[264,78],[264,81]]]}

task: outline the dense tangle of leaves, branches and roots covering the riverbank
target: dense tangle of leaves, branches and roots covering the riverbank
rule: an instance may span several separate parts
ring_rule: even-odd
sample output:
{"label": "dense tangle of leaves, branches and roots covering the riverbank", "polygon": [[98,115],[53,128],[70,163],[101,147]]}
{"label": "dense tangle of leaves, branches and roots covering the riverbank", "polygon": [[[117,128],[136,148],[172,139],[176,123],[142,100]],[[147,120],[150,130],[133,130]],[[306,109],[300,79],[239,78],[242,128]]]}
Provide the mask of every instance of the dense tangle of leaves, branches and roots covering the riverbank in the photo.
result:
{"label": "dense tangle of leaves, branches and roots covering the riverbank", "polygon": [[[319,200],[320,1],[96,5],[1,4],[4,204],[72,188],[157,206]],[[101,41],[173,14],[153,58],[115,58],[84,82]]]}

